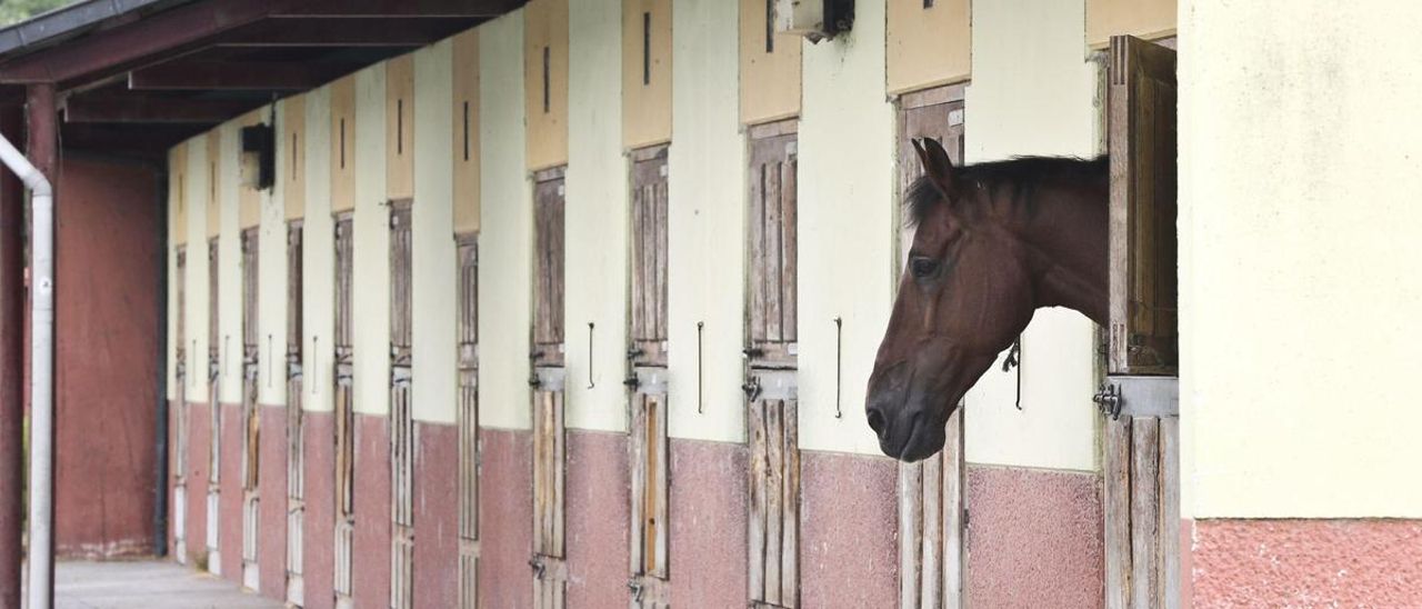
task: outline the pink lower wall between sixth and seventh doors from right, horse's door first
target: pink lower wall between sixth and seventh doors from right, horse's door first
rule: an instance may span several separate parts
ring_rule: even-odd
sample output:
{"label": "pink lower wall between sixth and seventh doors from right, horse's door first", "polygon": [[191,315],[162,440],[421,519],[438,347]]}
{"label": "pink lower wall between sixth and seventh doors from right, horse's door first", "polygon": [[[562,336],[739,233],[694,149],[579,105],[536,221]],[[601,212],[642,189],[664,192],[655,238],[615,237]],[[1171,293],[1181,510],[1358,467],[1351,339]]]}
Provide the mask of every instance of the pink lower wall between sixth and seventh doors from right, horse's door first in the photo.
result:
{"label": "pink lower wall between sixth and seventh doors from right, horse's door first", "polygon": [[415,423],[415,606],[459,602],[459,430]]}

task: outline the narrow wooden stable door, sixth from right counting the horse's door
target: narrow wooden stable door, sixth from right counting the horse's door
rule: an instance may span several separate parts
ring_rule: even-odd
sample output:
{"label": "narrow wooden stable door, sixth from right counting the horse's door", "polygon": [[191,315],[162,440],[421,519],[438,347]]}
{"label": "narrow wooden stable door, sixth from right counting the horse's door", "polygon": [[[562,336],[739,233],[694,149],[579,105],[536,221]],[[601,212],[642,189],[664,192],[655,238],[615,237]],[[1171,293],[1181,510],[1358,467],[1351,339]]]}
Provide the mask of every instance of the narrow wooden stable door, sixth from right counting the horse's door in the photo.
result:
{"label": "narrow wooden stable door, sixth from right counting the horse's door", "polygon": [[474,235],[459,235],[455,332],[459,394],[459,609],[478,603],[479,576],[479,249]]}

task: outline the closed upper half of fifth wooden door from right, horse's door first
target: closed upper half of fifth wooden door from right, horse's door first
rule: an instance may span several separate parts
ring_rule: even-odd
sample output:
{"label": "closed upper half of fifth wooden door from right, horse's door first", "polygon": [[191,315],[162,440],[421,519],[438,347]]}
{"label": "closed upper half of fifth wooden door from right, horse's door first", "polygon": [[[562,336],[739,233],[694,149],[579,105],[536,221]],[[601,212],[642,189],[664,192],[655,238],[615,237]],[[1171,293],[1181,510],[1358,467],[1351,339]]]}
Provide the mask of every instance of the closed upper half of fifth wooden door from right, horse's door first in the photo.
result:
{"label": "closed upper half of fifth wooden door from right, horse's door first", "polygon": [[533,186],[535,366],[563,366],[563,175]]}

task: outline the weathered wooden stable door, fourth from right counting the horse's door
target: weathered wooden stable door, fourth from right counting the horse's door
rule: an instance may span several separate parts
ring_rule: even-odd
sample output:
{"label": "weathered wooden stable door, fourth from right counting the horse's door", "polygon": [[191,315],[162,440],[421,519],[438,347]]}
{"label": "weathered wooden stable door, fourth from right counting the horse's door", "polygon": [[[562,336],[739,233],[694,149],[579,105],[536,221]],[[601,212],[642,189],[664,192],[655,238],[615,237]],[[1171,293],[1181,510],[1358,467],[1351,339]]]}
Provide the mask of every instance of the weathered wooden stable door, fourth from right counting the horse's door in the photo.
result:
{"label": "weathered wooden stable door, fourth from right counting the horse's door", "polygon": [[633,152],[631,606],[670,606],[667,583],[667,147]]}

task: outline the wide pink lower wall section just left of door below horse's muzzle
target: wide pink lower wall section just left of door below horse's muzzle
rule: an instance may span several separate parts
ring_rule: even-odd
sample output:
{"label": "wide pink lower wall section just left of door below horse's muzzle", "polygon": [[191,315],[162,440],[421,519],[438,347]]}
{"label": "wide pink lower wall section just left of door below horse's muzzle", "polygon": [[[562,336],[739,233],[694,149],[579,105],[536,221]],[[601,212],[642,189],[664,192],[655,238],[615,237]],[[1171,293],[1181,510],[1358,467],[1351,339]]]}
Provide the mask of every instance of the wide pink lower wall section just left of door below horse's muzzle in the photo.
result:
{"label": "wide pink lower wall section just left of door below horse's muzzle", "polygon": [[802,606],[897,606],[897,461],[801,451]]}

